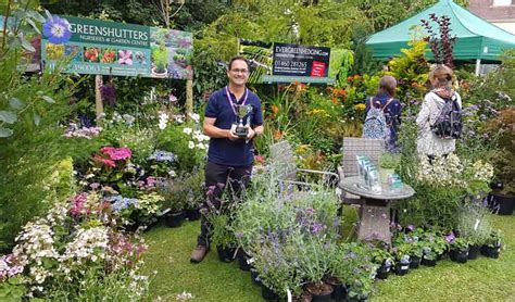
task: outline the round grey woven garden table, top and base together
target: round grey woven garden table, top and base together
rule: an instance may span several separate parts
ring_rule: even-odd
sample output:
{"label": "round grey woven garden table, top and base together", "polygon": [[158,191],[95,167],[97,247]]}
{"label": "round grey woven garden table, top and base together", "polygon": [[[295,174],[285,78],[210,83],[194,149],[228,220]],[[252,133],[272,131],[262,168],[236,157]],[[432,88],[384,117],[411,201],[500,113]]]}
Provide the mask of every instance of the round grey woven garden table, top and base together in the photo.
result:
{"label": "round grey woven garden table, top and base together", "polygon": [[357,239],[378,239],[390,244],[390,223],[394,221],[394,212],[390,211],[391,203],[412,197],[415,193],[413,188],[404,184],[402,189],[391,191],[384,185],[381,191],[374,192],[365,188],[360,176],[340,179],[338,187],[361,199]]}

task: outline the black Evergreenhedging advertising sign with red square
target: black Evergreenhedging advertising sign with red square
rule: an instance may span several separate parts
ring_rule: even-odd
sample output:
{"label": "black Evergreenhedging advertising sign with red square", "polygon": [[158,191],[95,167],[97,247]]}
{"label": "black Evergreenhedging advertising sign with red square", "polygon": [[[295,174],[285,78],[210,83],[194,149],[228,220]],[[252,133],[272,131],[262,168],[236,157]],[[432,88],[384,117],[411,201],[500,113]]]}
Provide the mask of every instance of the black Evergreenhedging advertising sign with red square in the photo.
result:
{"label": "black Evergreenhedging advertising sign with red square", "polygon": [[274,43],[274,76],[327,77],[330,48]]}

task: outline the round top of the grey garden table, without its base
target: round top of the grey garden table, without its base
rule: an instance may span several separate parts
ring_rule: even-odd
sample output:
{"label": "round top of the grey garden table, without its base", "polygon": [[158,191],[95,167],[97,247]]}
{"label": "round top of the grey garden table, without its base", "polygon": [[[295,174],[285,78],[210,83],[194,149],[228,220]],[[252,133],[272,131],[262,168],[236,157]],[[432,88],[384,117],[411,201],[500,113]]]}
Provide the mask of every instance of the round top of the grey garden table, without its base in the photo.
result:
{"label": "round top of the grey garden table, without its base", "polygon": [[360,176],[340,179],[338,187],[351,194],[379,200],[405,199],[415,194],[415,190],[406,184],[402,184],[402,188],[395,190],[390,190],[388,185],[381,184],[381,190],[376,192],[366,188]]}

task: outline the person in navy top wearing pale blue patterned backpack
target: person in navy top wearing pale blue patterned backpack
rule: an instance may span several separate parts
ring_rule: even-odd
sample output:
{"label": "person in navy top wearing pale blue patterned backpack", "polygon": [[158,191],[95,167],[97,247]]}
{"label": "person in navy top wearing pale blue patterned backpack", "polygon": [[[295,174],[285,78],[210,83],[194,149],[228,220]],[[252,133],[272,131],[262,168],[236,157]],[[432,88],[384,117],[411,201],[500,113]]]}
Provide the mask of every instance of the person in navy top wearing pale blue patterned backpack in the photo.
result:
{"label": "person in navy top wearing pale blue patterned backpack", "polygon": [[376,96],[365,100],[363,138],[385,139],[388,151],[398,150],[397,131],[401,124],[401,102],[395,99],[397,80],[384,76]]}

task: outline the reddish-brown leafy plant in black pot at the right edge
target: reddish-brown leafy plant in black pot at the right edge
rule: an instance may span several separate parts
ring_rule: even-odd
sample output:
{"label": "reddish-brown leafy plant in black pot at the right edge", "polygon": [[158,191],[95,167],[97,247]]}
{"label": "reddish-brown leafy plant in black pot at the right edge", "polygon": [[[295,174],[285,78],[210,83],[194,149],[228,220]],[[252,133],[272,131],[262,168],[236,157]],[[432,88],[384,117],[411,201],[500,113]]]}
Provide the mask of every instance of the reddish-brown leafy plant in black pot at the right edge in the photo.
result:
{"label": "reddish-brown leafy plant in black pot at the right edge", "polygon": [[500,185],[490,193],[490,205],[500,215],[512,215],[515,207],[515,108],[499,112],[488,129],[499,133],[498,152],[493,158],[494,175]]}

